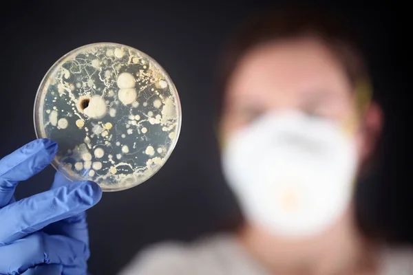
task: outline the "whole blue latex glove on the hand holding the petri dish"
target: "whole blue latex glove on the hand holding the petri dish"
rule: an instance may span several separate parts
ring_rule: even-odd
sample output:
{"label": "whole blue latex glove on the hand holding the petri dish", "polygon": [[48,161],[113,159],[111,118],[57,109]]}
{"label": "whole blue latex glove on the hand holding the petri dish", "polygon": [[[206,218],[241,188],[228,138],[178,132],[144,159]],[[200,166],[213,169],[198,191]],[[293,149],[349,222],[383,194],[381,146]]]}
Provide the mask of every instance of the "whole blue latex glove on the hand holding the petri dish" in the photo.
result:
{"label": "whole blue latex glove on the hand holding the petri dish", "polygon": [[0,274],[87,274],[85,210],[102,190],[93,181],[71,182],[56,173],[52,188],[20,201],[19,181],[52,162],[57,144],[34,140],[0,160]]}

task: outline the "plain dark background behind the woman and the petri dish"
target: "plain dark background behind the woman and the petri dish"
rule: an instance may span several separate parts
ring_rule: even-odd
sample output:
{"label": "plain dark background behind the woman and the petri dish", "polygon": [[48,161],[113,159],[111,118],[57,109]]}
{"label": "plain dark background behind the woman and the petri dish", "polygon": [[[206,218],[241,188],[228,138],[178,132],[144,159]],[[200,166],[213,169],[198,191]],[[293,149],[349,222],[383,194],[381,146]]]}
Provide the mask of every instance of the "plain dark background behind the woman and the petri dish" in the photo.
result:
{"label": "plain dark background behind the woman and the petri dish", "polygon": [[[413,243],[410,18],[394,1],[324,2],[310,4],[348,17],[362,34],[386,115],[385,161],[374,179],[357,192],[362,212],[385,236]],[[222,181],[215,144],[215,68],[222,44],[234,28],[254,12],[279,3],[1,3],[0,156],[36,138],[32,107],[37,87],[58,58],[81,45],[116,42],[136,47],[167,69],[180,93],[182,131],[164,168],[140,186],[105,193],[88,212],[93,274],[115,274],[146,245],[166,239],[190,241],[226,228],[238,217],[233,196]],[[20,184],[17,197],[47,190],[53,173],[49,167]]]}

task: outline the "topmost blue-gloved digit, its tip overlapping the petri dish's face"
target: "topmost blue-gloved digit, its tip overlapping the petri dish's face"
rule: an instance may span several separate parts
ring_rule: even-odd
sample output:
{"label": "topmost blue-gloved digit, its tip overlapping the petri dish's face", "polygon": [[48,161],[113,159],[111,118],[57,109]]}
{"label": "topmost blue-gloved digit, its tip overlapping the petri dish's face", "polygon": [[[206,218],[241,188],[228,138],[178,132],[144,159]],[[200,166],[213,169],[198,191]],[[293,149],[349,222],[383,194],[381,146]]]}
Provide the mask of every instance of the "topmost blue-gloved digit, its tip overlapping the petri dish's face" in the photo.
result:
{"label": "topmost blue-gloved digit, its tip overlapping the petri dish's face", "polygon": [[0,159],[0,208],[12,201],[19,181],[36,175],[52,162],[57,144],[52,140],[34,140]]}

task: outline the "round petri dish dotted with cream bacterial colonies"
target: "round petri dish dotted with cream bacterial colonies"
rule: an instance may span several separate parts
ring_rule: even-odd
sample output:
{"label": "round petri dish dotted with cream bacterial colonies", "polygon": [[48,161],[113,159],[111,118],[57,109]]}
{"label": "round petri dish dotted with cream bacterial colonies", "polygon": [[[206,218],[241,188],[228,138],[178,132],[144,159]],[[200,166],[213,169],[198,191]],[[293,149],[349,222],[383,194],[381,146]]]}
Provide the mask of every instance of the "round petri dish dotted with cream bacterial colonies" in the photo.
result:
{"label": "round petri dish dotted with cream bacterial colonies", "polygon": [[34,102],[36,136],[59,146],[52,166],[103,191],[131,188],[158,172],[180,127],[178,92],[165,69],[117,43],[65,54],[45,74]]}

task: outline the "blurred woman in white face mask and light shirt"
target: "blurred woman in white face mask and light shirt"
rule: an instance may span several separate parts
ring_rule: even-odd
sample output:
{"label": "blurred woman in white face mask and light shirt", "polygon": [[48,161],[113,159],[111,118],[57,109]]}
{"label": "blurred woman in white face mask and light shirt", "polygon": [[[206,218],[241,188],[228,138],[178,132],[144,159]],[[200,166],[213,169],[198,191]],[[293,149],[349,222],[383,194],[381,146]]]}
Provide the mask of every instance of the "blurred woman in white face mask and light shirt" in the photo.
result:
{"label": "blurred woman in white face mask and light shirt", "polygon": [[381,132],[366,61],[323,14],[248,22],[222,64],[222,168],[244,223],[184,245],[163,243],[121,274],[413,274],[413,253],[362,233],[354,183]]}

